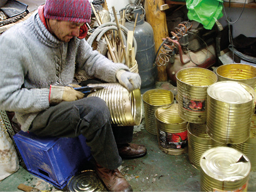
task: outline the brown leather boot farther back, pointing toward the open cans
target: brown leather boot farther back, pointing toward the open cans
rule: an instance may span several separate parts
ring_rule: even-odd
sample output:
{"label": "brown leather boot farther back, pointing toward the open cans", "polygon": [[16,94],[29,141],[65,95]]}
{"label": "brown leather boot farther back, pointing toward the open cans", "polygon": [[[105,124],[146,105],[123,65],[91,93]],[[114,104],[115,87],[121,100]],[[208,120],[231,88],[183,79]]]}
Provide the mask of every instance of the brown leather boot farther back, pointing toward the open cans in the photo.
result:
{"label": "brown leather boot farther back, pointing toward the open cans", "polygon": [[143,157],[147,154],[147,149],[143,145],[135,143],[126,143],[117,146],[118,153],[123,159],[135,159]]}

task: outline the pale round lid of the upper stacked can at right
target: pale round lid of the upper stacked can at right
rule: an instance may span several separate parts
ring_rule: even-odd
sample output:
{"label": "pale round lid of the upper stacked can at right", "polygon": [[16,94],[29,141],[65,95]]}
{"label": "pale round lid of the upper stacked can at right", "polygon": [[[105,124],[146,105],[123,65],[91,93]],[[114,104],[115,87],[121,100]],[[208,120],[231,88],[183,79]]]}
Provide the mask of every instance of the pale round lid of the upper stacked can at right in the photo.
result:
{"label": "pale round lid of the upper stacked can at right", "polygon": [[229,104],[242,104],[250,102],[255,95],[253,89],[247,84],[236,81],[220,81],[207,88],[207,94],[218,101]]}

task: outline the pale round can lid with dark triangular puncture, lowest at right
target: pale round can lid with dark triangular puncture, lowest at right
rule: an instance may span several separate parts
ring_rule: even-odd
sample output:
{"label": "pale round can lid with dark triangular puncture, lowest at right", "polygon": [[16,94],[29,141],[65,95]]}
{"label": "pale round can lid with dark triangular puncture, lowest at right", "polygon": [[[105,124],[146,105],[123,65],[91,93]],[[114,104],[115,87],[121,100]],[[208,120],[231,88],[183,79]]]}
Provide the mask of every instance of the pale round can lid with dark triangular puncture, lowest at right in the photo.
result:
{"label": "pale round can lid with dark triangular puncture, lowest at right", "polygon": [[251,169],[249,159],[229,147],[211,148],[200,159],[201,169],[211,178],[220,181],[236,181],[245,178]]}

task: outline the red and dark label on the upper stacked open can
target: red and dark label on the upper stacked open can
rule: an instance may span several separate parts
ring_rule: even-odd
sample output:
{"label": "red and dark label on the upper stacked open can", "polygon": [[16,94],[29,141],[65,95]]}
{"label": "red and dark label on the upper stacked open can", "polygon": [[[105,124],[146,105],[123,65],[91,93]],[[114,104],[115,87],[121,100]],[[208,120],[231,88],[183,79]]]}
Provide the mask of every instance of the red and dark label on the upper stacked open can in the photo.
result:
{"label": "red and dark label on the upper stacked open can", "polygon": [[204,112],[205,100],[189,99],[183,95],[183,108],[189,111]]}

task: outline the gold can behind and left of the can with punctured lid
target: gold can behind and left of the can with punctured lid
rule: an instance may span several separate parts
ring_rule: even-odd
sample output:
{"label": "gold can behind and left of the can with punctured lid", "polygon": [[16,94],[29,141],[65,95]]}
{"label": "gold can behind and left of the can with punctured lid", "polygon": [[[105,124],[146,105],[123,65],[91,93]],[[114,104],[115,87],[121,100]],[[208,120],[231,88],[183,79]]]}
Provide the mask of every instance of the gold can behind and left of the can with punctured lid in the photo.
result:
{"label": "gold can behind and left of the can with punctured lid", "polygon": [[188,158],[191,165],[200,169],[200,158],[208,149],[227,146],[226,144],[212,140],[206,133],[206,124],[188,123]]}

